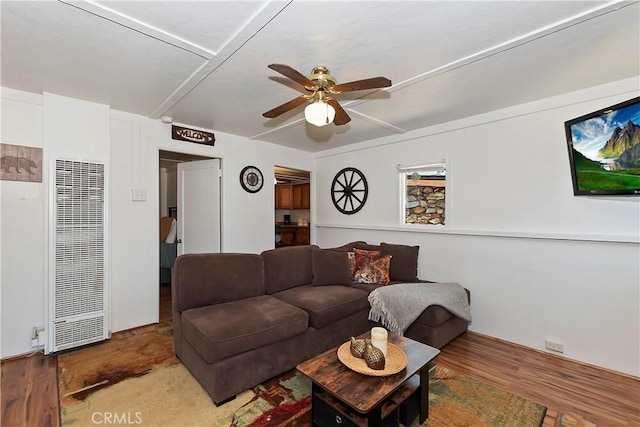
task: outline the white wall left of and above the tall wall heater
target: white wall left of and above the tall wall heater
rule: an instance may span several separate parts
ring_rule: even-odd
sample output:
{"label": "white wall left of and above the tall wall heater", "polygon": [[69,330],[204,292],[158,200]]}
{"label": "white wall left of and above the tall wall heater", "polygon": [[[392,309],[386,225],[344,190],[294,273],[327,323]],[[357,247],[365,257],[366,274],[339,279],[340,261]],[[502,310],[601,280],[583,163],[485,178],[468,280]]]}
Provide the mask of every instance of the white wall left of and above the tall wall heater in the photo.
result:
{"label": "white wall left of and above the tall wall heater", "polygon": [[51,162],[108,164],[109,107],[2,89],[2,125],[2,142],[43,148],[42,183],[1,183],[1,355],[6,357],[30,351],[31,329],[47,323]]}

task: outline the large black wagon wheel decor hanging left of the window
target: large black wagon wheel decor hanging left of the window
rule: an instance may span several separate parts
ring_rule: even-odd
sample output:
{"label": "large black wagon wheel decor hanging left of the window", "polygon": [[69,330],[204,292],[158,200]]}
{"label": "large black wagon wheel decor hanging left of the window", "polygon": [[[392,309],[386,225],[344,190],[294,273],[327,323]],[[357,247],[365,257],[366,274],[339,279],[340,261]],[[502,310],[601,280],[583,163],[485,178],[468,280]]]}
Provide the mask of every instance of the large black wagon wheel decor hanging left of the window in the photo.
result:
{"label": "large black wagon wheel decor hanging left of the window", "polygon": [[333,205],[345,215],[352,215],[362,209],[368,194],[367,179],[356,168],[342,169],[331,183]]}

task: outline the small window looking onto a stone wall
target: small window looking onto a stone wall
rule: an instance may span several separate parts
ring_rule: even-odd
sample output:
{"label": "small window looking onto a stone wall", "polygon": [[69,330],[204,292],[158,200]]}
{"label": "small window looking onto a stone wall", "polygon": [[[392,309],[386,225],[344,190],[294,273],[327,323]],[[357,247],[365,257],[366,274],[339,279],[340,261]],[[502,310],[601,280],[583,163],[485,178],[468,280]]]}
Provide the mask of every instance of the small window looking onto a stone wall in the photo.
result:
{"label": "small window looking onto a stone wall", "polygon": [[398,166],[404,224],[445,224],[446,165]]}

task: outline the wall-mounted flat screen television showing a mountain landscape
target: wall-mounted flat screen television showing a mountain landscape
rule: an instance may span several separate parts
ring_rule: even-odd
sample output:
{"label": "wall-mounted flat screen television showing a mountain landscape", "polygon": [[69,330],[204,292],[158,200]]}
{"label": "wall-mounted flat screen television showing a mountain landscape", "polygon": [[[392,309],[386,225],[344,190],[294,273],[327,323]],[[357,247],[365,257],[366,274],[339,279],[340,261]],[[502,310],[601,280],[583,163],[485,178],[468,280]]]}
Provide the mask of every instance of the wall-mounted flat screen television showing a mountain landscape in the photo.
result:
{"label": "wall-mounted flat screen television showing a mountain landscape", "polygon": [[640,195],[640,97],[564,126],[574,195]]}

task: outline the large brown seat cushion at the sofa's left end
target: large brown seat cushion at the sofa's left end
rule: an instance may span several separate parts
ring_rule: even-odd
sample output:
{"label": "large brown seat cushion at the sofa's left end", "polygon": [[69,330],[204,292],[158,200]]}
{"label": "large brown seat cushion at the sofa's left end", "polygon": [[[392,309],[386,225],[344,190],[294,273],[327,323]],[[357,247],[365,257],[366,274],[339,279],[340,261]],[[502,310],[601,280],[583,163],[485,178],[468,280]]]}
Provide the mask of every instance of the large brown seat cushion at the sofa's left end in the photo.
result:
{"label": "large brown seat cushion at the sofa's left end", "polygon": [[304,310],[270,295],[182,313],[182,333],[207,363],[302,334],[308,324]]}

